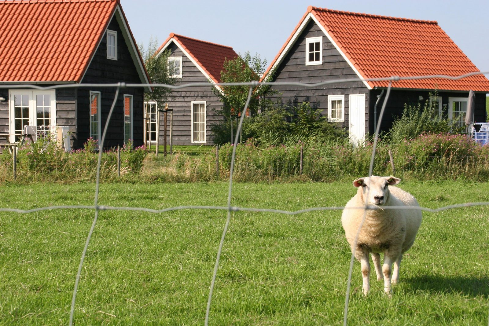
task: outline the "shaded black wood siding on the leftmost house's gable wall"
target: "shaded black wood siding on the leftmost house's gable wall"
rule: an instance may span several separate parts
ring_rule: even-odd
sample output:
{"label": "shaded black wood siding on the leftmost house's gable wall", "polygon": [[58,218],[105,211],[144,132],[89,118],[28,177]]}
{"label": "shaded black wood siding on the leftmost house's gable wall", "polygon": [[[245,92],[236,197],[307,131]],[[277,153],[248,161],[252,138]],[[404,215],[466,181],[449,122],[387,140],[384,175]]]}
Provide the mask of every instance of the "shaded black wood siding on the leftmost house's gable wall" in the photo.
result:
{"label": "shaded black wood siding on the leftmost house's gable wall", "polygon": [[[112,18],[108,29],[117,32],[117,60],[107,59],[107,38],[104,35],[83,77],[82,84],[141,83],[128,45],[124,41],[122,30],[115,17]],[[115,88],[113,87],[82,87],[78,89],[76,97],[78,141],[75,144],[77,148],[82,147],[90,135],[90,90],[101,93],[101,132],[103,132],[115,95]],[[121,88],[119,91],[117,103],[109,124],[109,131],[103,144],[104,148],[112,148],[124,144],[124,94],[133,95],[134,146],[141,146],[143,144],[143,88],[126,87]]]}

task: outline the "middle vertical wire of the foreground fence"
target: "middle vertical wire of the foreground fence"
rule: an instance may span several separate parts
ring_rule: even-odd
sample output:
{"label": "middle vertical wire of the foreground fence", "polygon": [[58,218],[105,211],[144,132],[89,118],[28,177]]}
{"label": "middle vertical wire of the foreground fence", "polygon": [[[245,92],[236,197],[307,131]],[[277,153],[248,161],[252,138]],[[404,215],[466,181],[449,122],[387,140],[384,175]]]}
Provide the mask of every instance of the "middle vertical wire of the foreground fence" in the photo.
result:
{"label": "middle vertical wire of the foreground fence", "polygon": [[219,268],[219,260],[221,259],[222,246],[224,245],[224,238],[226,237],[227,227],[229,226],[229,221],[231,220],[231,194],[233,190],[233,170],[234,170],[234,159],[236,157],[236,147],[238,146],[238,138],[240,135],[241,127],[243,126],[243,119],[248,108],[249,101],[251,100],[251,94],[253,91],[253,86],[249,87],[248,98],[246,99],[246,104],[244,105],[243,112],[241,113],[240,123],[238,129],[236,130],[236,137],[234,138],[233,153],[231,156],[231,168],[229,171],[229,191],[227,194],[227,219],[224,224],[224,230],[222,231],[221,242],[219,243],[219,249],[216,257],[216,264],[214,265],[214,273],[212,274],[211,286],[209,289],[209,298],[207,299],[207,308],[205,310],[205,326],[209,325],[209,311],[212,303],[212,292],[214,291],[214,285],[216,283],[217,271]]}

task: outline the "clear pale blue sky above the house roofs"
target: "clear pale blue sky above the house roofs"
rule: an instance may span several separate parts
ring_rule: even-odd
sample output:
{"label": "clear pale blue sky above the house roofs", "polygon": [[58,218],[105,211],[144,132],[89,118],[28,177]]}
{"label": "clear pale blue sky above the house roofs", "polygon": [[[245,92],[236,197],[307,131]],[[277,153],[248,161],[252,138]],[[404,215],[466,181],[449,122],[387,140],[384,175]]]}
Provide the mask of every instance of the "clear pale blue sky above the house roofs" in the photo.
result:
{"label": "clear pale blue sky above the house roofs", "polygon": [[[467,57],[489,71],[488,0],[121,0],[137,43],[163,43],[170,33],[275,57],[309,5],[437,21]],[[487,74],[486,76],[489,77]]]}

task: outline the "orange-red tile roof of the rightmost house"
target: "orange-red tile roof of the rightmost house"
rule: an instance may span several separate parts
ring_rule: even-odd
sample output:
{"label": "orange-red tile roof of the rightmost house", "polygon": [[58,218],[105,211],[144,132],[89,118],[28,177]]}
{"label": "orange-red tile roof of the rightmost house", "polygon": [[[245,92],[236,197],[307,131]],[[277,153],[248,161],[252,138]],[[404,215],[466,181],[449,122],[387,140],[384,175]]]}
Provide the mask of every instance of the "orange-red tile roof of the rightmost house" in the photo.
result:
{"label": "orange-red tile roof of the rightmost house", "polygon": [[[480,70],[435,21],[369,15],[308,7],[299,24],[279,51],[276,64],[296,31],[311,17],[336,44],[363,79],[391,76],[460,76]],[[295,35],[295,36],[294,36]],[[267,74],[267,72],[265,74]],[[369,87],[387,87],[387,81],[368,81]],[[443,78],[400,80],[393,87],[489,91],[482,74],[460,80]]]}

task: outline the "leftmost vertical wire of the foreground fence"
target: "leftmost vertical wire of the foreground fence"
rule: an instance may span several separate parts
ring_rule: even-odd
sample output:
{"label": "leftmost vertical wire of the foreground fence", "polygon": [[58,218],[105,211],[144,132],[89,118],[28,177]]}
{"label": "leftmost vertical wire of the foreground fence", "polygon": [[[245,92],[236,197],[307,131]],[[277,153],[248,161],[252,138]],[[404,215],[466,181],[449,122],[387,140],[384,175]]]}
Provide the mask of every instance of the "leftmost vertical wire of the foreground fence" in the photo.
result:
{"label": "leftmost vertical wire of the foreground fence", "polygon": [[107,129],[109,127],[109,123],[111,121],[111,116],[112,112],[115,108],[115,103],[117,102],[117,98],[119,97],[119,89],[122,87],[122,83],[119,83],[117,88],[115,89],[115,95],[114,95],[114,100],[112,101],[112,106],[111,110],[109,111],[109,116],[107,117],[107,121],[105,122],[105,127],[104,127],[104,132],[102,133],[102,138],[99,142],[98,145],[98,162],[97,162],[97,179],[95,183],[95,198],[94,198],[94,206],[95,206],[95,217],[93,218],[92,225],[90,227],[89,235],[87,237],[87,241],[85,242],[85,247],[83,248],[83,253],[82,253],[82,258],[80,259],[80,265],[78,266],[78,272],[76,273],[76,279],[75,279],[75,286],[73,288],[73,297],[71,298],[71,309],[69,312],[69,325],[73,325],[73,316],[75,312],[75,300],[76,300],[76,293],[78,291],[78,284],[80,283],[80,276],[82,274],[82,269],[83,269],[83,262],[85,261],[85,255],[87,254],[87,250],[89,247],[90,239],[93,234],[93,230],[95,229],[95,224],[97,223],[97,218],[98,218],[98,194],[99,194],[99,188],[100,188],[100,165],[102,161],[102,150],[104,148],[104,140],[105,140],[105,135],[107,134]]}

